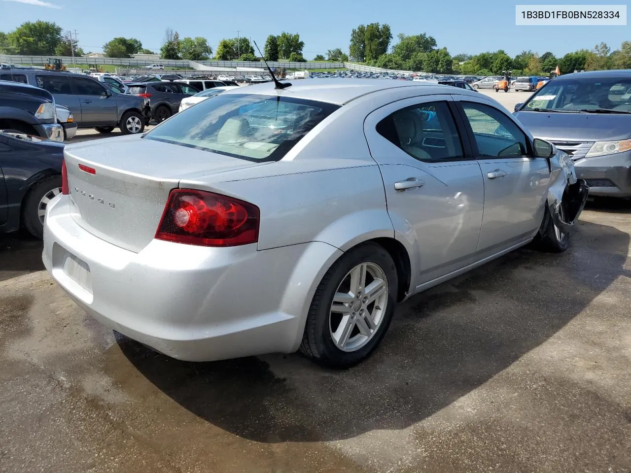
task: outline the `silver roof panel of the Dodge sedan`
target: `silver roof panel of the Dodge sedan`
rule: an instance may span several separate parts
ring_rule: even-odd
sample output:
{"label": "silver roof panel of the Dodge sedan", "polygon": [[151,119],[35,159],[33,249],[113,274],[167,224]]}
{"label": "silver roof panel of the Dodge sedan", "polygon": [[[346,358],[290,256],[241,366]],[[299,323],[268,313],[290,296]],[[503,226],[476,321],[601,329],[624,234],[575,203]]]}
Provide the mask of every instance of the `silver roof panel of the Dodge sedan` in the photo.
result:
{"label": "silver roof panel of the Dodge sedan", "polygon": [[[285,81],[286,82],[286,81]],[[432,95],[440,93],[453,94],[454,88],[448,85],[413,81],[393,81],[389,79],[292,79],[292,86],[283,90],[274,90],[274,83],[262,83],[260,85],[247,86],[244,93],[259,95],[285,95],[317,102],[336,103],[344,105],[361,96],[397,89],[401,87],[416,87],[422,93],[419,95]],[[465,91],[463,89],[463,91]],[[471,95],[478,93],[467,91]],[[228,90],[226,93],[240,93],[236,90]]]}

